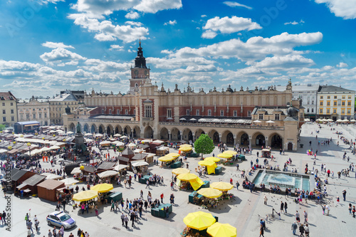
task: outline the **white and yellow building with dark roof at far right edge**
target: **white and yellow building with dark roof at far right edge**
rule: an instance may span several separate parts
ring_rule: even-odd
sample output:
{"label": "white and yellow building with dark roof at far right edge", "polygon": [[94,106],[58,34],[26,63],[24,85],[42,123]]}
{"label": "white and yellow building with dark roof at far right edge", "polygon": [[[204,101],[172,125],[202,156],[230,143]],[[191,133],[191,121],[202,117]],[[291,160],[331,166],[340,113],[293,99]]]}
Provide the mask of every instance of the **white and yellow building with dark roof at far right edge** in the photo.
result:
{"label": "white and yellow building with dark roof at far right edge", "polygon": [[355,113],[355,90],[321,85],[318,90],[318,118],[352,120]]}

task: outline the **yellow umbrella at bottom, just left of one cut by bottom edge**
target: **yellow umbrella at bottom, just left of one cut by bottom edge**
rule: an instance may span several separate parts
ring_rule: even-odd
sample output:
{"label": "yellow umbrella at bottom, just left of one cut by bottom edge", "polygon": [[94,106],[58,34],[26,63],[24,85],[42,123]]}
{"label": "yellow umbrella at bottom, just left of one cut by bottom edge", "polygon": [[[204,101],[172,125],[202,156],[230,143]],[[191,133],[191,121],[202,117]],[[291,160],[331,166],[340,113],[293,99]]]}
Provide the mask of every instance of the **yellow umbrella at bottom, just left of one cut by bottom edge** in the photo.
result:
{"label": "yellow umbrella at bottom, just left of one cut by bottom edge", "polygon": [[186,217],[184,217],[183,222],[188,227],[201,231],[215,223],[216,219],[209,213],[197,211],[189,213]]}

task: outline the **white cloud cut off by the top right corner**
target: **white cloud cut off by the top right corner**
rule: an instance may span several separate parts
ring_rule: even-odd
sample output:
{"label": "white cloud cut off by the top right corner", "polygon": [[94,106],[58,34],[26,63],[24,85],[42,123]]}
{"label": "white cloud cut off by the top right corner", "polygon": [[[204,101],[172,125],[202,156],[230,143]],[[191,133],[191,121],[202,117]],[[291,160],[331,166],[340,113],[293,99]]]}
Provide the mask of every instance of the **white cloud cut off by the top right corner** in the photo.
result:
{"label": "white cloud cut off by the top right corner", "polygon": [[315,0],[317,4],[326,4],[335,16],[343,19],[356,19],[356,1],[354,0]]}

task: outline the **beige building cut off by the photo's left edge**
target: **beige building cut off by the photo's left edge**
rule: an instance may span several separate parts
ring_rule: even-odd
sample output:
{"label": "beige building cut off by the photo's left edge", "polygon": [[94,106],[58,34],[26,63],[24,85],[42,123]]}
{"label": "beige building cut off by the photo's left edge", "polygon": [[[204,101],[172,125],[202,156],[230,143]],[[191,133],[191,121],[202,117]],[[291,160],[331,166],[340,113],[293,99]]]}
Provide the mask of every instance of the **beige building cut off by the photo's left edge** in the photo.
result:
{"label": "beige building cut off by the photo's left edge", "polygon": [[13,127],[17,122],[17,100],[15,96],[9,92],[0,92],[1,102],[1,124],[7,127]]}

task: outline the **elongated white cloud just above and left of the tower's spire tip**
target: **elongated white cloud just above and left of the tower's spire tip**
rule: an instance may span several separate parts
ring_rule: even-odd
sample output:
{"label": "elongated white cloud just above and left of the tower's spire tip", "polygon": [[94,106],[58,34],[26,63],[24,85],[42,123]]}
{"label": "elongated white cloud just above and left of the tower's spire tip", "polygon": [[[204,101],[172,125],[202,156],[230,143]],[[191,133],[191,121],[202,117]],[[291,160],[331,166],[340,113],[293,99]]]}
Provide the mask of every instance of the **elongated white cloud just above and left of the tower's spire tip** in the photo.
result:
{"label": "elongated white cloud just above and left of the tower's spire tip", "polygon": [[113,25],[111,21],[98,21],[98,19],[88,19],[86,16],[81,16],[75,19],[74,23],[88,31],[95,32],[95,37],[98,41],[115,41],[120,39],[126,43],[137,40],[138,38],[146,39],[148,29],[144,27],[119,26]]}

